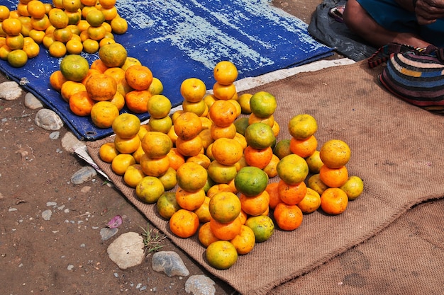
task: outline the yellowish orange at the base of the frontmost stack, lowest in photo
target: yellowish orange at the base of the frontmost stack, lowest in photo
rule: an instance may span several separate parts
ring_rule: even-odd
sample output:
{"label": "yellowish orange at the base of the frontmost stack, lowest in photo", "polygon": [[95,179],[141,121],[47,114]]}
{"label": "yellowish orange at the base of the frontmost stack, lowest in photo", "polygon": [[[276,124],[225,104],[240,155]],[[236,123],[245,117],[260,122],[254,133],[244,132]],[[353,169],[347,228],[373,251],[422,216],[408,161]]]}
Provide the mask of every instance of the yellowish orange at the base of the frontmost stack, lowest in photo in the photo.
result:
{"label": "yellowish orange at the base of the frontmost stack, lowest in photo", "polygon": [[206,248],[205,257],[209,265],[218,270],[228,270],[238,261],[236,248],[229,241],[211,243]]}

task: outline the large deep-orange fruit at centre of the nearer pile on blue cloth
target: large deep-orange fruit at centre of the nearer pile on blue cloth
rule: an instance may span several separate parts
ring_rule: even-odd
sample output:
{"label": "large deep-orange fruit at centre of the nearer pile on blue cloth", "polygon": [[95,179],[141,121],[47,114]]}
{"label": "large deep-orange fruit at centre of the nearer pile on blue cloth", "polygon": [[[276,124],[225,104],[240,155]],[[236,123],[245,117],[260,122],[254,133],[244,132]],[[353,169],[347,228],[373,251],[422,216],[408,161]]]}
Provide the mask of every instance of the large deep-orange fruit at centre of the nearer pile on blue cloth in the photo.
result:
{"label": "large deep-orange fruit at centre of the nearer pile on blue cloth", "polygon": [[106,74],[90,76],[85,87],[91,99],[96,101],[111,100],[117,92],[116,80]]}

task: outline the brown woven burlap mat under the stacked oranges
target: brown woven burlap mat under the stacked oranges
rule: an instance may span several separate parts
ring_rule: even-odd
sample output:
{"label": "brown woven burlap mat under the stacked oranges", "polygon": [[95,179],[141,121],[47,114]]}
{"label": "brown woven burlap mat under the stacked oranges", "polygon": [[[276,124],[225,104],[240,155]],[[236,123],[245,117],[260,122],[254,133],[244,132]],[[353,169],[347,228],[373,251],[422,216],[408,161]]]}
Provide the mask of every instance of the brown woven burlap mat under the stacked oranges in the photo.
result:
{"label": "brown woven burlap mat under the stacked oranges", "polygon": [[[386,278],[393,272],[401,272],[404,263],[417,258],[406,255],[406,250],[420,249],[423,247],[420,243],[422,240],[416,241],[418,245],[407,247],[409,235],[416,233],[409,232],[401,219],[398,221],[401,230],[384,229],[414,205],[444,196],[444,163],[441,159],[444,117],[404,103],[384,91],[376,81],[381,70],[370,70],[367,64],[358,62],[296,74],[246,91],[268,91],[277,98],[275,120],[281,126],[279,139],[289,138],[287,123],[291,117],[309,113],[318,121],[316,138],[320,145],[328,139],[346,141],[352,150],[352,158],[348,163],[349,173],[359,175],[365,181],[365,191],[349,203],[343,214],[327,216],[314,212],[304,216],[302,225],[296,231],[275,231],[270,240],[257,244],[251,253],[240,257],[229,270],[215,270],[209,266],[204,259],[204,248],[196,237],[181,239],[173,236],[167,221],[157,214],[155,206],[138,202],[134,190],[126,187],[122,178],[112,173],[109,164],[100,161],[99,146],[111,139],[88,143],[87,148],[99,168],[109,175],[128,201],[138,207],[152,224],[206,270],[242,294],[309,294],[309,285],[304,286],[309,291],[299,293],[298,288],[304,285],[302,282],[316,283],[317,287],[323,286],[331,291],[329,294],[338,294],[338,288],[348,286],[351,281],[355,285],[361,284],[359,274],[365,275],[363,273],[369,272],[369,269],[387,274],[380,282],[367,279],[362,283],[363,287],[358,286],[350,294],[371,294],[364,291],[369,284],[382,284],[380,290],[383,294],[400,294],[387,291],[391,290],[391,284],[395,282],[388,282]],[[438,204],[442,209],[442,204]],[[421,221],[421,215],[416,214],[418,221]],[[409,224],[408,221],[404,222]],[[414,222],[410,225],[414,228]],[[440,254],[437,259],[440,259],[441,274],[444,268],[443,228],[441,221],[440,227],[438,225],[441,243],[436,250]],[[388,240],[379,244],[377,237],[370,239],[378,233],[387,236]],[[360,245],[364,241],[367,242]],[[392,246],[396,248],[391,249]],[[366,253],[369,248],[373,255],[366,258],[367,254],[360,254]],[[428,250],[433,251],[430,247]],[[343,256],[336,258],[343,253]],[[361,261],[365,258],[379,261],[369,265]],[[381,260],[396,261],[396,264],[384,270],[378,267]],[[422,262],[435,267],[429,260]],[[333,272],[338,264],[343,267],[342,274]],[[415,273],[421,274],[423,268],[425,266],[421,264]],[[311,272],[317,274],[313,275],[313,279]],[[347,277],[347,274],[351,277]],[[413,271],[410,275],[415,276]],[[324,282],[328,282],[328,285]],[[317,290],[313,294],[327,294]]]}

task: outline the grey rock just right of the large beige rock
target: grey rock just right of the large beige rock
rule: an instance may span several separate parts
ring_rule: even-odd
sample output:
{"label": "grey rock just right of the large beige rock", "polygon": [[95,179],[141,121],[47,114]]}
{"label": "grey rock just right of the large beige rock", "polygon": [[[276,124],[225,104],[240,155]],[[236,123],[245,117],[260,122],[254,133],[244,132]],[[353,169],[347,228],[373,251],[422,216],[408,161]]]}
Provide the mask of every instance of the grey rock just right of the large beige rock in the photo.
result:
{"label": "grey rock just right of the large beige rock", "polygon": [[152,255],[151,267],[156,272],[165,272],[168,277],[174,275],[187,277],[189,275],[189,270],[184,265],[182,258],[173,251],[154,253]]}

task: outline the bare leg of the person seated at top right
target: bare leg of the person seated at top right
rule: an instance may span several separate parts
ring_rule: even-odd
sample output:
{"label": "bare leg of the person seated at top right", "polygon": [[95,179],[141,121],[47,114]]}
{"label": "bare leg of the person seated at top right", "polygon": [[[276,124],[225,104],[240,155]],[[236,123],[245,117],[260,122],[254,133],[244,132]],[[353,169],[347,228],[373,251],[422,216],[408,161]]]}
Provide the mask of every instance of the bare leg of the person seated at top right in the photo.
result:
{"label": "bare leg of the person seated at top right", "polygon": [[356,0],[348,0],[343,19],[345,25],[356,35],[374,47],[382,47],[389,42],[397,42],[415,47],[427,47],[430,43],[413,33],[399,33],[386,30],[365,11]]}

